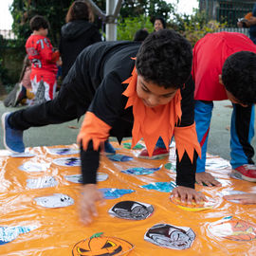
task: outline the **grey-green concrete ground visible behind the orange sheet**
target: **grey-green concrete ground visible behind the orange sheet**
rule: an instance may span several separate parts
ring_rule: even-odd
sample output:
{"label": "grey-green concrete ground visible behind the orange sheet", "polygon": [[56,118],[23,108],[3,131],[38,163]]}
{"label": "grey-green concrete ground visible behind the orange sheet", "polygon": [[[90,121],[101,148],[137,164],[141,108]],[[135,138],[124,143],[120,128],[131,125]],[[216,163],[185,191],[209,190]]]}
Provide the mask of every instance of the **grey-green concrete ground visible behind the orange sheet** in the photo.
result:
{"label": "grey-green concrete ground visible behind the orange sheet", "polygon": [[[0,101],[0,115],[4,112],[12,112],[20,108],[6,108]],[[229,101],[215,101],[212,113],[210,137],[208,143],[208,153],[220,155],[225,159],[230,159],[229,155],[229,127],[231,116],[231,103]],[[79,133],[79,127],[82,119],[69,121],[63,124],[48,125],[40,128],[30,128],[24,133],[24,142],[27,147],[68,145],[76,142]],[[255,125],[256,129],[256,125]],[[0,128],[0,149],[3,146],[3,132]],[[252,145],[256,149],[256,137],[252,140]],[[256,162],[256,156],[253,157]]]}

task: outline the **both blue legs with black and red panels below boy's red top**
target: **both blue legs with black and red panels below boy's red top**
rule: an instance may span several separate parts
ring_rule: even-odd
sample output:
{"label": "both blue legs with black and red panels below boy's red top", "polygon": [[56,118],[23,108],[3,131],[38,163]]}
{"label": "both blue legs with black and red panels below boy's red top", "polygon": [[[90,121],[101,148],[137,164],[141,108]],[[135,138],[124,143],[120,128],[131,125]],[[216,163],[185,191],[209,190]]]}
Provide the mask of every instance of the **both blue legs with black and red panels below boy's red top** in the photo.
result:
{"label": "both blue legs with black and red panels below boy's red top", "polygon": [[[210,131],[210,119],[213,108],[212,101],[195,101],[194,120],[198,141],[202,148],[201,158],[197,158],[196,173],[205,172],[207,143]],[[254,150],[250,145],[254,136],[254,105],[242,107],[233,104],[230,127],[230,148],[232,168],[243,164],[254,164]]]}

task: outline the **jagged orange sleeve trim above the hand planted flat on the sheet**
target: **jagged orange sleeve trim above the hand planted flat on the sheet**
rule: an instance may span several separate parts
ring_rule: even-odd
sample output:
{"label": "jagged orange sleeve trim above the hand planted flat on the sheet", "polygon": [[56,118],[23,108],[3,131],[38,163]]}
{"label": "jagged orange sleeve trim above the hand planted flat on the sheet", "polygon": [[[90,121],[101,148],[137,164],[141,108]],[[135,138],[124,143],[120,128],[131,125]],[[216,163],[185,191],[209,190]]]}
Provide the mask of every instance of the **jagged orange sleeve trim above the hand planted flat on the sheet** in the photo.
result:
{"label": "jagged orange sleeve trim above the hand planted flat on the sheet", "polygon": [[201,147],[197,139],[195,123],[186,127],[175,127],[174,138],[179,161],[182,159],[185,151],[189,155],[191,161],[193,159],[194,150],[201,157]]}

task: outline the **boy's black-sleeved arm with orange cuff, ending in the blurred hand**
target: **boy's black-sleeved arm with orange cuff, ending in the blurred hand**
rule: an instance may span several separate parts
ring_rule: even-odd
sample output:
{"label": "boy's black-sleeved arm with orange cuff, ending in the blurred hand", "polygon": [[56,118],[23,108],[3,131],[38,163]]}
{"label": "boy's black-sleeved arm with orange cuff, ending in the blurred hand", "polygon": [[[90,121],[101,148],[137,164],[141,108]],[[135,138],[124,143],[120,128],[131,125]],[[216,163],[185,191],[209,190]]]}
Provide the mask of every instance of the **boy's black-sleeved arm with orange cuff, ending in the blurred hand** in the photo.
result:
{"label": "boy's black-sleeved arm with orange cuff, ending in the blurred hand", "polygon": [[96,204],[102,201],[97,187],[97,171],[100,164],[101,145],[119,118],[125,102],[119,77],[109,74],[102,82],[85,114],[78,136],[81,143],[82,194],[80,213],[82,223],[88,225],[97,216]]}

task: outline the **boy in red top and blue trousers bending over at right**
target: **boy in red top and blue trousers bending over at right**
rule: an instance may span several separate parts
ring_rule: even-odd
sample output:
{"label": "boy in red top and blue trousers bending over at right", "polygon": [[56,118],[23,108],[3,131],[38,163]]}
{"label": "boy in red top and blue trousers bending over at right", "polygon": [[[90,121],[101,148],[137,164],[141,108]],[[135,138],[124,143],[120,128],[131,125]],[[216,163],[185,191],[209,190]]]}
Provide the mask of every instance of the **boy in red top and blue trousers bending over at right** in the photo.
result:
{"label": "boy in red top and blue trousers bending over at right", "polygon": [[[192,78],[195,83],[194,119],[202,157],[197,159],[196,181],[220,186],[205,172],[212,101],[230,100],[233,105],[230,126],[231,167],[247,181],[256,181],[254,150],[254,104],[256,102],[256,46],[241,33],[206,35],[193,48]],[[216,141],[217,142],[217,141]],[[221,141],[219,141],[221,147]]]}

